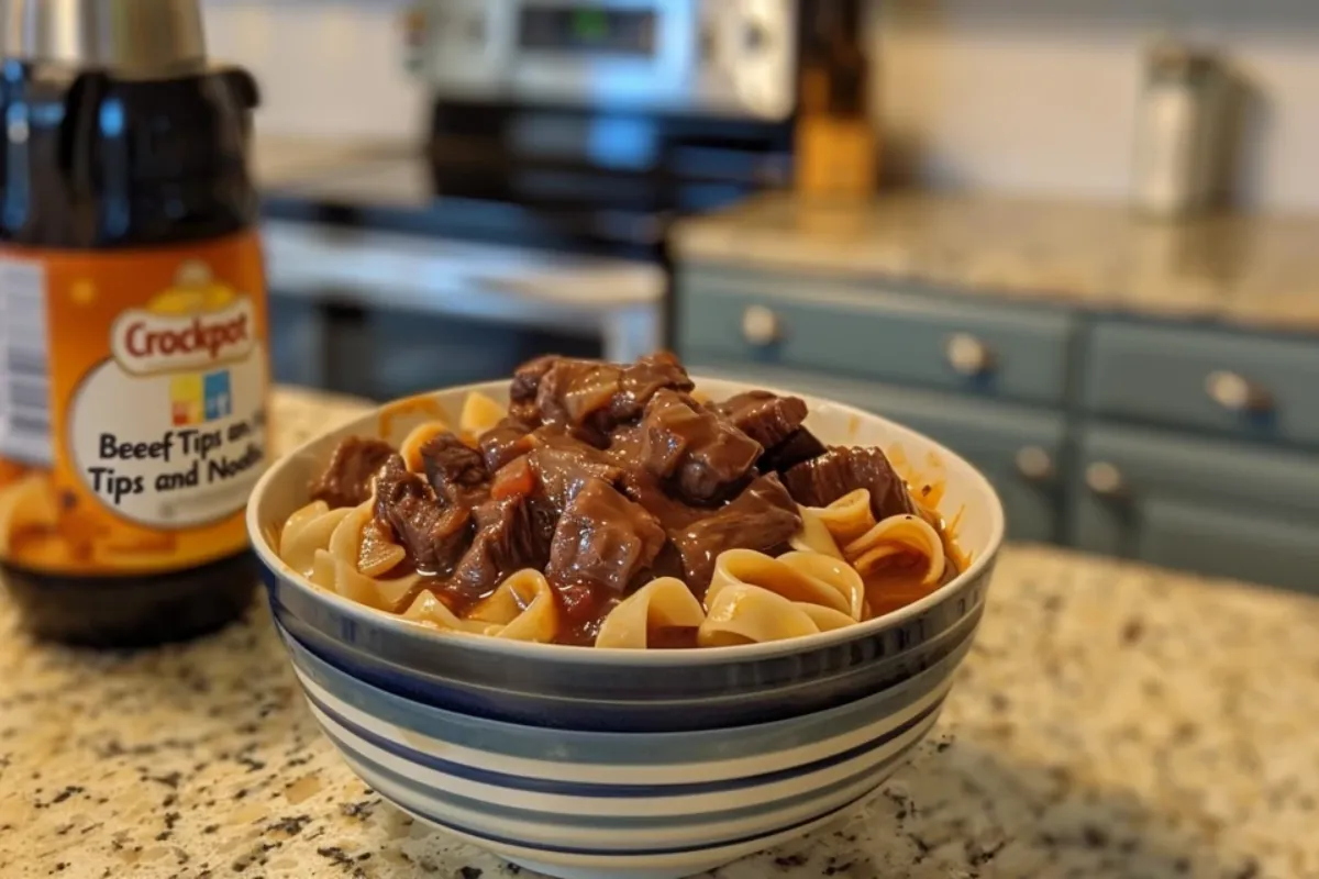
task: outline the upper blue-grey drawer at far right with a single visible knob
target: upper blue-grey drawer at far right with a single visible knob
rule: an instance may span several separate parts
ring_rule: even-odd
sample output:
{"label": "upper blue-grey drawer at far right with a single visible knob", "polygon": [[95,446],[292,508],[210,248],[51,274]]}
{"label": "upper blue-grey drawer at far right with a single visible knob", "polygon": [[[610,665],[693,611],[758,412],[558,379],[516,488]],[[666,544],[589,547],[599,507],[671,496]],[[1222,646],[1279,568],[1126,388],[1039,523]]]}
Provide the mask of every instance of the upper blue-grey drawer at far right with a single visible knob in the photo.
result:
{"label": "upper blue-grey drawer at far right with a single visible knob", "polygon": [[1089,411],[1242,439],[1319,444],[1319,340],[1101,322]]}

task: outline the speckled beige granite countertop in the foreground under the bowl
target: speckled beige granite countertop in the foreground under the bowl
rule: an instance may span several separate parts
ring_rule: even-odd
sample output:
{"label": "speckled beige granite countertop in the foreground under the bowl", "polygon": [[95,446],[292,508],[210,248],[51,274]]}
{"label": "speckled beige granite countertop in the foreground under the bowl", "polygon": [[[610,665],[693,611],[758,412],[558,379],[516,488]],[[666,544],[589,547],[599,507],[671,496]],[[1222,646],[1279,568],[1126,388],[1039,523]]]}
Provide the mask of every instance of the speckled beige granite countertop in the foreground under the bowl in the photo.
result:
{"label": "speckled beige granite countertop in the foreground under the bowl", "polygon": [[[284,443],[353,412],[277,395]],[[1319,602],[1059,550],[1004,551],[939,726],[762,876],[1319,876]],[[0,875],[479,879],[306,710],[257,606],[190,646],[30,643],[0,598]]]}

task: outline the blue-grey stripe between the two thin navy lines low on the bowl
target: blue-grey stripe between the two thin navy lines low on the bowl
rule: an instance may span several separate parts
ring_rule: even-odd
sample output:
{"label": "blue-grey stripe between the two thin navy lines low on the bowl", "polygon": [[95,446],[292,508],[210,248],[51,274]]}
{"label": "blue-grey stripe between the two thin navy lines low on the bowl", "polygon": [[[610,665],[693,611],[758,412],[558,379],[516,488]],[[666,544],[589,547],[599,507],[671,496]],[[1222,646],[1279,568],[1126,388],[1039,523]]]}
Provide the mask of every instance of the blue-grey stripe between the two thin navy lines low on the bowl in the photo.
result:
{"label": "blue-grey stripe between the two thin navy lines low on the bowl", "polygon": [[[480,821],[491,825],[508,826],[508,822],[526,822],[526,824],[541,824],[545,825],[546,832],[551,834],[571,836],[575,829],[584,830],[611,830],[619,832],[625,838],[636,839],[636,834],[642,830],[669,830],[669,829],[682,829],[690,828],[692,825],[700,826],[714,826],[725,821],[739,821],[745,818],[753,818],[762,814],[773,814],[774,812],[782,812],[791,809],[794,807],[809,804],[814,800],[820,800],[827,796],[847,791],[849,787],[856,785],[859,781],[873,778],[876,775],[888,776],[894,770],[897,770],[910,755],[911,751],[921,743],[923,737],[913,738],[906,742],[902,747],[894,751],[892,755],[886,756],[880,763],[873,766],[867,766],[856,772],[847,775],[836,781],[813,788],[810,791],[803,791],[801,793],[777,797],[766,801],[753,801],[752,805],[739,807],[735,809],[719,809],[711,812],[700,812],[699,814],[662,814],[662,816],[625,816],[620,817],[616,814],[568,814],[565,812],[543,812],[538,809],[524,809],[510,805],[503,805],[499,803],[489,803],[487,800],[477,800],[474,797],[454,793],[451,791],[439,789],[435,787],[421,785],[414,778],[402,775],[377,760],[363,754],[360,750],[352,746],[352,742],[346,739],[340,733],[334,729],[326,729],[326,734],[331,741],[343,751],[344,759],[348,760],[355,771],[367,780],[377,792],[381,795],[394,791],[408,792],[408,801],[417,801],[418,799],[431,800],[441,803],[451,809],[462,810],[479,816]],[[383,783],[384,781],[384,783]],[[408,804],[404,803],[406,807]],[[725,841],[711,841],[711,845],[727,845]]]}

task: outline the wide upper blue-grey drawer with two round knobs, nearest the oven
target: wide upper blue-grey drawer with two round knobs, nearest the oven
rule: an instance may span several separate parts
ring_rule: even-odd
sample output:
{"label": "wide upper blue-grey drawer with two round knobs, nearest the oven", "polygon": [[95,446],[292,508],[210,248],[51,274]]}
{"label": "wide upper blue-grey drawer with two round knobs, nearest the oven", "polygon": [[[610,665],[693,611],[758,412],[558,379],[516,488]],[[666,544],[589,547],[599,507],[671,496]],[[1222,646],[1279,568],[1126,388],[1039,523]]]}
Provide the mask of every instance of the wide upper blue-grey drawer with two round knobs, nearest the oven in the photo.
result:
{"label": "wide upper blue-grey drawer with two round knobs, nearest the oven", "polygon": [[695,269],[678,281],[689,358],[778,365],[1058,403],[1072,316],[1060,311]]}

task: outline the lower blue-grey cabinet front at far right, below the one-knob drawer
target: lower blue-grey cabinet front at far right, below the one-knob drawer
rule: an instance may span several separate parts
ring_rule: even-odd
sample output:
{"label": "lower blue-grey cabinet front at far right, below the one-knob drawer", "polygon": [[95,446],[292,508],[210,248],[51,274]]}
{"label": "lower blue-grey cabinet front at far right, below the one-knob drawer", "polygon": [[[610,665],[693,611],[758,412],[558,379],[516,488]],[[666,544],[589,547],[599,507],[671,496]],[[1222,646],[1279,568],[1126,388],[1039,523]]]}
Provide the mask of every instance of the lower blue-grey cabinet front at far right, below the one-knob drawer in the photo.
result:
{"label": "lower blue-grey cabinet front at far right, below the one-knob drawer", "polygon": [[1096,426],[1072,497],[1080,548],[1319,592],[1319,456]]}

